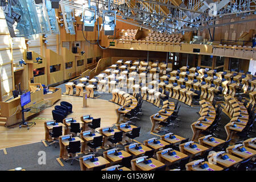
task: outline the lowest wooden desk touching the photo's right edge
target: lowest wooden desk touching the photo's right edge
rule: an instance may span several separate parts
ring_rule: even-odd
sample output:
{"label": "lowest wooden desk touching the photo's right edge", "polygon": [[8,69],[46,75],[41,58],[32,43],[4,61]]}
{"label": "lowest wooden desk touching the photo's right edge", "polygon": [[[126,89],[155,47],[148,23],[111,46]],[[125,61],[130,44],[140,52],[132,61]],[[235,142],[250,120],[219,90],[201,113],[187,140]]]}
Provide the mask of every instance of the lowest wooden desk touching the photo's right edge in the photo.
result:
{"label": "lowest wooden desk touching the photo's right edge", "polygon": [[241,152],[239,150],[239,148],[236,148],[235,150],[233,150],[233,148],[234,148],[234,146],[229,146],[228,148],[226,148],[226,152],[228,154],[238,156],[238,158],[248,159],[248,158],[256,155],[256,151],[251,148],[244,147],[246,149],[246,151],[243,151],[243,152]]}

